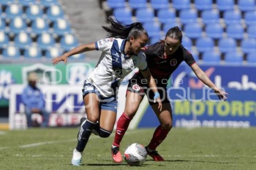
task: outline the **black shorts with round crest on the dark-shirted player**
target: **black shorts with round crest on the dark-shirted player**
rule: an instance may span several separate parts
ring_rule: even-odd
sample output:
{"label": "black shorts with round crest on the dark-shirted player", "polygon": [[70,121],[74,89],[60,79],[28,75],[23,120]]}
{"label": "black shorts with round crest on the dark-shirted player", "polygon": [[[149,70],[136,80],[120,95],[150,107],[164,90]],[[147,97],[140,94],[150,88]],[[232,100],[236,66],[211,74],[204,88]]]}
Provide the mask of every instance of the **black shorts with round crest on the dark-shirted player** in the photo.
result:
{"label": "black shorts with round crest on the dark-shirted player", "polygon": [[[160,94],[162,103],[170,103],[170,101],[168,100],[166,87],[159,86],[158,84],[157,84],[157,87],[158,87],[158,93]],[[154,92],[148,87],[147,82],[145,82],[145,80],[142,80],[142,76],[139,74],[134,74],[134,76],[129,80],[126,94],[128,91],[137,93],[142,97],[144,97],[144,95],[146,94],[148,97],[149,104],[150,105],[156,104],[154,103],[154,96],[155,96]]]}

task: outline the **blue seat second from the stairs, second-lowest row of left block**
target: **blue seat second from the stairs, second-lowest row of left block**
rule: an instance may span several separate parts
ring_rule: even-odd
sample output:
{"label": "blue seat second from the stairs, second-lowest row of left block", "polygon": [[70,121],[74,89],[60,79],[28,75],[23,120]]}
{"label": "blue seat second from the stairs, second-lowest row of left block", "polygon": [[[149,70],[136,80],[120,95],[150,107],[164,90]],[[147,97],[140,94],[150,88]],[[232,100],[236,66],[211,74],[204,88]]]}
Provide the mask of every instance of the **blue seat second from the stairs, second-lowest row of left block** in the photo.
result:
{"label": "blue seat second from the stairs, second-lowest row of left block", "polygon": [[52,35],[44,32],[37,38],[37,44],[42,50],[46,50],[48,47],[52,47],[55,45],[55,40]]}

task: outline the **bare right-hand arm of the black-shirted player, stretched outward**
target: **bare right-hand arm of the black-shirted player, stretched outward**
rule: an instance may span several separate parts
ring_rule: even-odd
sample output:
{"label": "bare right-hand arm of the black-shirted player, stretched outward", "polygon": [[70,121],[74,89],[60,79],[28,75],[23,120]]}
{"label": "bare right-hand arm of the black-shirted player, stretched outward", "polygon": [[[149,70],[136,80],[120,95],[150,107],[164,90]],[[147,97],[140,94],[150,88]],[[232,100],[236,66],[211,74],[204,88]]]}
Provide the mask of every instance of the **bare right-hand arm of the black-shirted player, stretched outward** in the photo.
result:
{"label": "bare right-hand arm of the black-shirted player, stretched outward", "polygon": [[208,87],[214,90],[214,93],[219,97],[219,99],[226,100],[228,93],[220,90],[215,84],[209,79],[209,77],[204,73],[204,71],[199,67],[198,64],[194,63],[191,66],[192,70],[194,71],[195,75]]}

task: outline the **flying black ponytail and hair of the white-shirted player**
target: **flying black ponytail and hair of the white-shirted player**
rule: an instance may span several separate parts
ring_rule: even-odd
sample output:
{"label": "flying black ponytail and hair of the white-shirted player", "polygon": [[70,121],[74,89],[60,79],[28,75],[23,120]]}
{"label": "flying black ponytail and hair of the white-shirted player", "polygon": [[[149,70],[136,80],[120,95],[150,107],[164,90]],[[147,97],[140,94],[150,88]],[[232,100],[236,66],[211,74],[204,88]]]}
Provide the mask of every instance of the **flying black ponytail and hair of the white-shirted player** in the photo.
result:
{"label": "flying black ponytail and hair of the white-shirted player", "polygon": [[129,39],[133,36],[135,39],[145,34],[148,37],[148,32],[142,27],[142,23],[132,23],[129,25],[122,25],[117,19],[108,17],[107,22],[111,26],[102,26],[108,32],[107,37]]}

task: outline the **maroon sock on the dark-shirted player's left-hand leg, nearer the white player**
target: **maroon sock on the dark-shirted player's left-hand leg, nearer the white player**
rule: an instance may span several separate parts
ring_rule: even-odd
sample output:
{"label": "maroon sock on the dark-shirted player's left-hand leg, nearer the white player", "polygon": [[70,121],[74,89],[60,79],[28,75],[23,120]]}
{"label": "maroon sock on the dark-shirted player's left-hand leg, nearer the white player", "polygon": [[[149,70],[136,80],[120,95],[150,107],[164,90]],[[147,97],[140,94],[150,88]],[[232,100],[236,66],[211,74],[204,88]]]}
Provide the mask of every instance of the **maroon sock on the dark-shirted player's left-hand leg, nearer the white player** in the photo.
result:
{"label": "maroon sock on the dark-shirted player's left-hand leg, nearer the white player", "polygon": [[120,118],[117,121],[117,129],[115,134],[115,139],[113,142],[113,145],[120,146],[120,142],[123,138],[123,135],[125,134],[126,130],[128,129],[128,126],[130,124],[130,121],[132,120],[132,117],[126,116],[125,113],[123,113]]}

